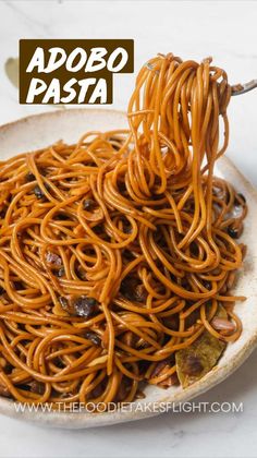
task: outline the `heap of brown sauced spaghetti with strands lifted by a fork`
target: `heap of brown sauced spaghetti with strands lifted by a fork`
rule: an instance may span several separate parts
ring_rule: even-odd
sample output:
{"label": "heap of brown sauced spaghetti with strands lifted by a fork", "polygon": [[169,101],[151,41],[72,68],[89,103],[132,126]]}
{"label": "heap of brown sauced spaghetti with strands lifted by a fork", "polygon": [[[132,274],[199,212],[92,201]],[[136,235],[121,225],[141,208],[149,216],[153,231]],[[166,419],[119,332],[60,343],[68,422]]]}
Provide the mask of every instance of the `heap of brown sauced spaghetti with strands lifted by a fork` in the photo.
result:
{"label": "heap of brown sauced spaghetti with strands lifted by a fork", "polygon": [[2,395],[133,401],[146,382],[178,383],[175,353],[206,330],[238,338],[247,207],[213,176],[230,96],[211,59],[159,55],[138,73],[128,130],[0,164]]}

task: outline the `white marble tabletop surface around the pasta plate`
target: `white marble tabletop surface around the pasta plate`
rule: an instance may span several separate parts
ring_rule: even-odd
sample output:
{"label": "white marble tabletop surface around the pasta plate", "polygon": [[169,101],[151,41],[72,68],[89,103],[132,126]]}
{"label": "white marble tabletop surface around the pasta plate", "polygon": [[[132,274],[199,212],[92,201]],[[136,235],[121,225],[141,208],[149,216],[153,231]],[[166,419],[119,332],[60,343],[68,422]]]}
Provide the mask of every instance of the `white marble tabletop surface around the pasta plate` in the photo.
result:
{"label": "white marble tabletop surface around the pasta plate", "polygon": [[[51,107],[19,106],[3,65],[20,38],[134,38],[138,70],[156,52],[213,56],[232,83],[257,77],[257,3],[247,1],[1,1],[0,123]],[[125,109],[131,75],[117,75],[113,108]],[[257,184],[257,91],[230,106],[230,157]],[[0,152],[1,155],[1,152]],[[243,413],[173,413],[87,431],[39,429],[0,417],[0,457],[256,457],[257,352],[203,401],[244,402]]]}

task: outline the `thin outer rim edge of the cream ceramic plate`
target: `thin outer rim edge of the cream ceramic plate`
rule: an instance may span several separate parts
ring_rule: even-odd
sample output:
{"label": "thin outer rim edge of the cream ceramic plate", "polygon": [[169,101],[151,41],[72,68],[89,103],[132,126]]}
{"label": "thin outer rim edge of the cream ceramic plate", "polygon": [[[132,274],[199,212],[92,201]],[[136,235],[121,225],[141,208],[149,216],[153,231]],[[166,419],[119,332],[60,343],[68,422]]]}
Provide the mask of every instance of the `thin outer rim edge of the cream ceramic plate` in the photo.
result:
{"label": "thin outer rim edge of the cream ceramic plate", "polygon": [[[125,113],[121,110],[108,109],[108,108],[69,108],[66,110],[54,110],[54,111],[45,111],[37,114],[30,114],[24,118],[20,118],[15,121],[8,122],[3,125],[0,125],[0,134],[4,134],[9,131],[9,129],[15,129],[17,125],[22,125],[23,123],[29,122],[35,120],[36,122],[40,121],[41,119],[47,119],[49,117],[62,117],[62,116],[73,116],[79,113],[90,113],[93,116],[99,114],[114,114],[121,116],[124,118]],[[242,172],[236,168],[236,166],[232,162],[232,160],[228,157],[222,157],[219,159],[219,164],[221,165],[222,171],[224,173],[232,173],[237,176],[238,180],[244,183],[245,188],[247,189],[248,194],[253,197],[255,204],[257,205],[257,191],[250,184],[250,182],[242,174]],[[50,411],[50,412],[42,412],[42,411],[28,411],[25,410],[16,411],[14,408],[15,402],[13,400],[9,400],[7,398],[0,397],[0,413],[5,414],[8,417],[23,419],[28,422],[39,423],[41,425],[50,425],[54,427],[66,427],[66,429],[85,429],[85,427],[95,427],[95,426],[106,426],[112,425],[117,423],[127,422],[132,420],[140,420],[144,418],[154,417],[160,414],[161,411],[158,411],[158,408],[161,409],[161,406],[172,402],[175,405],[178,402],[185,402],[188,401],[196,396],[204,394],[205,391],[209,390],[213,386],[218,385],[220,382],[225,379],[229,375],[231,375],[240,365],[248,358],[252,351],[257,347],[257,323],[254,334],[250,338],[244,343],[244,346],[237,350],[237,352],[230,359],[227,363],[222,365],[217,365],[213,367],[208,374],[206,374],[203,378],[200,378],[194,385],[185,388],[184,390],[172,393],[163,391],[163,396],[158,399],[156,402],[157,411],[149,412],[149,411],[142,411],[137,410],[137,405],[133,403],[131,409],[123,410],[123,411],[114,411],[114,412],[105,412],[105,413],[85,413],[85,412],[59,412],[59,411]]]}

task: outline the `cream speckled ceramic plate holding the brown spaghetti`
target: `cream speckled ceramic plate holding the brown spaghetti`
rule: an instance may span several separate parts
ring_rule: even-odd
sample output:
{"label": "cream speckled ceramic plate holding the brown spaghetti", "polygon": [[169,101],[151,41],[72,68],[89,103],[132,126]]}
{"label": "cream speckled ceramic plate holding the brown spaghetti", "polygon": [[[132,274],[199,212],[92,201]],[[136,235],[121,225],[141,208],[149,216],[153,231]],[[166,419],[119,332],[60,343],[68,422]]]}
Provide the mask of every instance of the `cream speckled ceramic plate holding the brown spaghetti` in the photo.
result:
{"label": "cream speckled ceramic plate holding the brown spaghetti", "polygon": [[[69,109],[48,112],[21,119],[16,122],[0,128],[0,160],[9,158],[17,153],[45,147],[51,143],[63,140],[76,142],[79,136],[89,130],[112,130],[126,128],[124,113],[106,109]],[[50,426],[84,429],[103,426],[132,420],[138,420],[157,414],[157,411],[143,411],[140,402],[154,402],[156,410],[163,402],[184,402],[199,394],[207,391],[215,385],[231,375],[249,355],[257,345],[257,192],[246,181],[242,173],[228,158],[218,161],[217,173],[230,181],[242,192],[248,204],[248,216],[245,220],[245,230],[242,241],[247,243],[248,253],[244,268],[240,272],[235,294],[247,297],[245,302],[235,305],[235,312],[243,323],[241,338],[227,347],[218,365],[212,369],[199,382],[186,389],[171,387],[167,390],[155,386],[146,388],[146,398],[133,405],[130,410],[107,413],[86,412],[16,412],[14,402],[0,398],[0,413],[20,418],[29,422]],[[231,378],[233,384],[233,378]]]}

